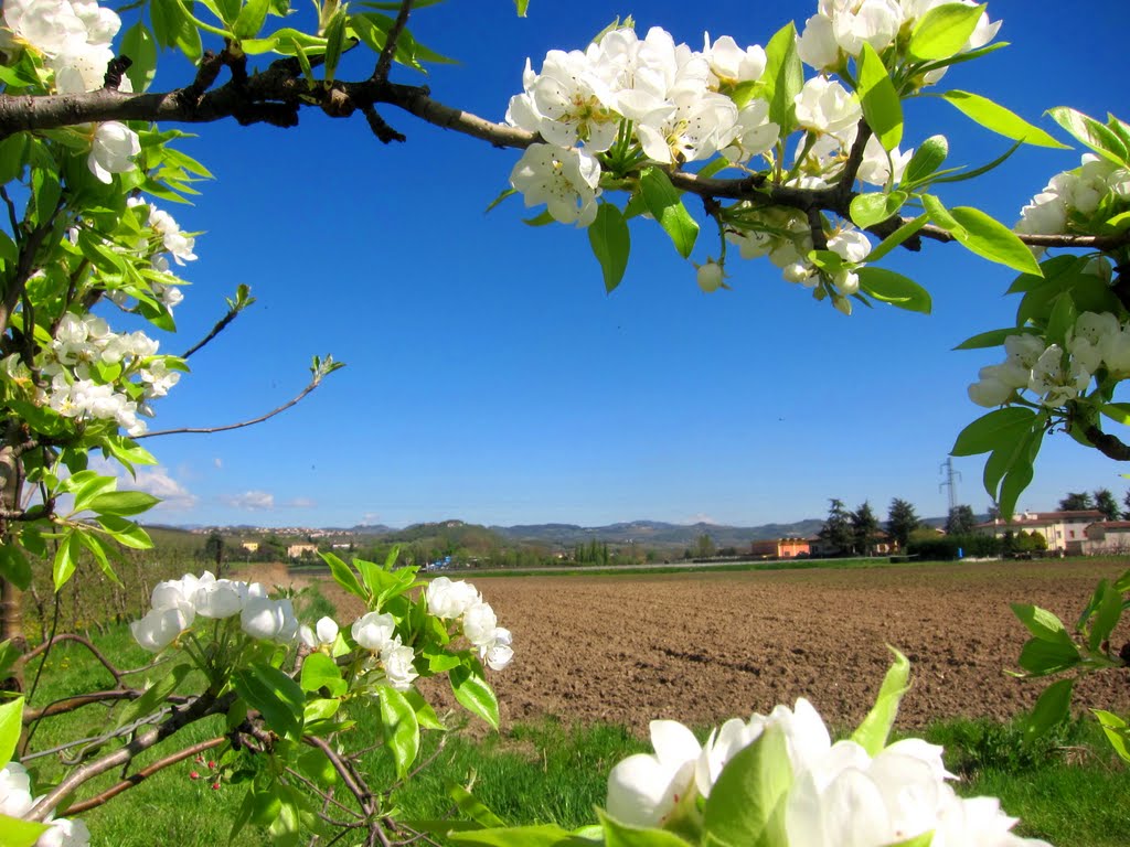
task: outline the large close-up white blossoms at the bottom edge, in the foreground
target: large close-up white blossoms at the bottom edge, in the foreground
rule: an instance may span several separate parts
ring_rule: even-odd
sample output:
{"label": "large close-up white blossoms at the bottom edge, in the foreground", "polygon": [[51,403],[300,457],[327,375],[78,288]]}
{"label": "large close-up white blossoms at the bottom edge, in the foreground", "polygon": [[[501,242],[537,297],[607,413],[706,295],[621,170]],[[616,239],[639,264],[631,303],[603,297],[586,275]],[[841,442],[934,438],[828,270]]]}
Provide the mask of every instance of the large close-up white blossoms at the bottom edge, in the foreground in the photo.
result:
{"label": "large close-up white blossoms at the bottom edge, in the foreground", "polygon": [[1044,841],[1009,830],[1017,822],[992,797],[962,798],[947,779],[941,748],[906,739],[870,756],[860,744],[832,743],[803,698],[749,721],[731,719],[705,744],[675,721],[654,721],[654,753],[618,763],[608,777],[608,813],[635,827],[663,827],[697,797],[709,797],[722,769],[774,727],[785,739],[792,781],[784,827],[790,847],[880,847],[932,832],[930,844],[1020,847]]}

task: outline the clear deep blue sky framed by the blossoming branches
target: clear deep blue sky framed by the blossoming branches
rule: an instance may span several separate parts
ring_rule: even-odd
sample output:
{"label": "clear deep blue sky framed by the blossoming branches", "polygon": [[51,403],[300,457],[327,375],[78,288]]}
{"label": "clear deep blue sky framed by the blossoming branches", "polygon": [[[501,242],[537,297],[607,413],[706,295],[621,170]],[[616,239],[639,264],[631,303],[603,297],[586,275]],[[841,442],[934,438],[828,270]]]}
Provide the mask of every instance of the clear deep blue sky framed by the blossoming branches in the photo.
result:
{"label": "clear deep blue sky framed by the blossoming branches", "polygon": [[[1124,111],[1121,44],[1102,35],[1124,28],[1124,6],[1086,9],[1086,23],[1068,26],[1060,3],[990,3],[1012,46],[951,70],[937,90],[991,96],[1048,129],[1040,116],[1051,106]],[[418,12],[412,30],[461,60],[433,71],[433,96],[501,120],[527,56],[537,68],[548,49],[581,47],[616,15],[698,46],[704,30],[764,44],[814,10],[532,0],[519,19],[508,1],[454,0]],[[156,88],[180,81],[159,69]],[[383,114],[407,143],[381,146],[359,115],[313,112],[296,130],[214,124],[184,142],[217,178],[193,207],[172,210],[206,233],[184,269],[193,285],[177,309],[181,333],[163,350],[205,333],[237,283],[259,303],[192,358],[154,427],[262,413],[305,384],[314,353],[348,367],[264,425],[147,442],[162,464],[140,484],[168,498],[155,518],[751,525],[822,516],[829,497],[870,500],[883,517],[893,497],[945,514],[940,464],[983,411],[966,385],[998,360],[951,348],[1011,323],[1010,271],[928,244],[888,267],[930,289],[933,315],[879,306],[849,318],[765,261],[731,262],[733,290],[704,295],[666,236],[637,220],[627,274],[607,296],[583,230],[528,227],[518,200],[484,215],[518,152]],[[912,104],[907,120],[904,147],[941,132],[953,163],[977,165],[1008,146],[939,101]],[[1011,224],[1078,156],[1023,150],[944,198]],[[704,237],[694,257],[715,246]],[[959,501],[983,510],[980,460],[955,466]],[[1064,436],[1046,439],[1020,506],[1053,508],[1068,490],[1098,487],[1121,499],[1121,470]]]}

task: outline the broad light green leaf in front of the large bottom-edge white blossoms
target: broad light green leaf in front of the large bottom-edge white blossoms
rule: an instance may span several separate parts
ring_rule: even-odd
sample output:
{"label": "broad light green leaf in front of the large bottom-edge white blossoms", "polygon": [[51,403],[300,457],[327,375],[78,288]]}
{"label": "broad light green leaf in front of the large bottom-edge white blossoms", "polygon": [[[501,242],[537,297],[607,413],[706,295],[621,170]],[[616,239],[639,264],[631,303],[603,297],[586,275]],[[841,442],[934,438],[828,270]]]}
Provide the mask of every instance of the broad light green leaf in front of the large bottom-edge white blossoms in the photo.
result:
{"label": "broad light green leaf in front of the large bottom-edge white blossoms", "polygon": [[703,810],[704,844],[775,847],[785,842],[784,805],[792,785],[784,731],[768,725],[722,768]]}

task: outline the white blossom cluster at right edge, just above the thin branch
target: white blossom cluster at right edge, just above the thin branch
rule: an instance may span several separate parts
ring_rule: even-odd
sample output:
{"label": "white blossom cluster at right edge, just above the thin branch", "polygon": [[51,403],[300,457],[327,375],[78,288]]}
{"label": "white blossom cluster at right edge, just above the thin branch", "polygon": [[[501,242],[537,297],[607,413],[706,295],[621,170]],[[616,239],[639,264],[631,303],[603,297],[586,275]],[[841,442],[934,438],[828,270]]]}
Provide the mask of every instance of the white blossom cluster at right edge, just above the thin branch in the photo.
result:
{"label": "white blossom cluster at right edge, just above the thin branch", "polygon": [[1101,209],[1104,219],[1130,209],[1130,169],[1088,152],[1079,167],[1055,174],[1032,198],[1015,229],[1028,235],[1094,232],[1093,218]]}

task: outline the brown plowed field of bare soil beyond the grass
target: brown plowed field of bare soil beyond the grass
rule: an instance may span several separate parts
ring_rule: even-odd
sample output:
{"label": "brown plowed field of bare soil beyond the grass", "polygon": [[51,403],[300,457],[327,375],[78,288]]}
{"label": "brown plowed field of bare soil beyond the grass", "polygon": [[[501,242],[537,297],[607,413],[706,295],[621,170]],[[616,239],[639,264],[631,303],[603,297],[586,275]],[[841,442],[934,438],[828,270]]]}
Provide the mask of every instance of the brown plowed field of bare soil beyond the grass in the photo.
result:
{"label": "brown plowed field of bare soil beyond the grass", "polygon": [[[1016,667],[1026,639],[1009,602],[1035,603],[1071,626],[1095,583],[1127,566],[983,562],[492,577],[476,585],[514,634],[514,662],[490,674],[504,723],[548,714],[633,726],[657,717],[709,724],[803,696],[843,726],[870,707],[890,644],[912,663],[899,713],[907,727],[1029,708],[1042,686],[1003,673]],[[357,611],[329,593],[341,619]],[[1130,640],[1130,627],[1112,640]],[[1130,710],[1130,679],[1123,671],[1097,674],[1075,702]]]}

